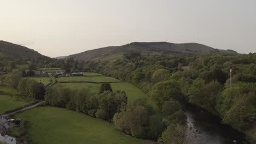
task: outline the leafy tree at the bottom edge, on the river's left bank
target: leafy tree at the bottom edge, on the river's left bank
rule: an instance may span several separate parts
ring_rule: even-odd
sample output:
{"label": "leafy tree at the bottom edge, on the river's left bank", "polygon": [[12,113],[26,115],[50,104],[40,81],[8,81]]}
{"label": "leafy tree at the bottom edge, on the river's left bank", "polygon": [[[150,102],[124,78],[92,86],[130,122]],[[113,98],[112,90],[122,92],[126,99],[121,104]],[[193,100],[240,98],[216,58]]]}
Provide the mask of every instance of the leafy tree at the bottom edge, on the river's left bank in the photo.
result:
{"label": "leafy tree at the bottom edge, on the river's left bank", "polygon": [[185,131],[187,127],[181,124],[170,124],[158,139],[159,144],[185,144]]}

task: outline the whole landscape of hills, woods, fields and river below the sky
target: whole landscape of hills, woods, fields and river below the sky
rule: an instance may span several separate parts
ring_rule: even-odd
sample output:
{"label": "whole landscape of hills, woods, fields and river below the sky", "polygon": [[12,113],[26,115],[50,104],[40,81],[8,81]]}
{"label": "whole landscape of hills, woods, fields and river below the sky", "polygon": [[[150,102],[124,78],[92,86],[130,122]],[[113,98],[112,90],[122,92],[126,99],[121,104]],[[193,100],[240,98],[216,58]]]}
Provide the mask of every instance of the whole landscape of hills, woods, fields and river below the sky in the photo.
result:
{"label": "whole landscape of hills, woods, fields and river below the sky", "polygon": [[7,117],[17,143],[255,141],[255,53],[131,43],[54,59],[4,44],[0,113],[44,101]]}

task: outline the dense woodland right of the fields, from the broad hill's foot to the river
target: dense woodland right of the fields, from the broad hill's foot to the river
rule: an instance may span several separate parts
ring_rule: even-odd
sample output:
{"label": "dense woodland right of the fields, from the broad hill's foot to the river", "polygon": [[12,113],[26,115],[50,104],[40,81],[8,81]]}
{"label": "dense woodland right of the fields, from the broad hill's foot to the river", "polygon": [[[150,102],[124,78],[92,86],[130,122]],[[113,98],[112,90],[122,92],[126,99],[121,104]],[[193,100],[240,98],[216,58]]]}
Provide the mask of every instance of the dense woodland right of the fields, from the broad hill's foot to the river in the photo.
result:
{"label": "dense woodland right of the fields, from the broad hill's foot to the river", "polygon": [[[158,104],[159,119],[166,117],[166,104],[191,103],[219,116],[223,123],[245,131],[256,120],[255,64],[256,53],[195,56],[129,52],[113,63],[86,62],[84,70],[113,76],[143,89]],[[173,115],[179,111],[182,108],[167,117],[177,117]]]}

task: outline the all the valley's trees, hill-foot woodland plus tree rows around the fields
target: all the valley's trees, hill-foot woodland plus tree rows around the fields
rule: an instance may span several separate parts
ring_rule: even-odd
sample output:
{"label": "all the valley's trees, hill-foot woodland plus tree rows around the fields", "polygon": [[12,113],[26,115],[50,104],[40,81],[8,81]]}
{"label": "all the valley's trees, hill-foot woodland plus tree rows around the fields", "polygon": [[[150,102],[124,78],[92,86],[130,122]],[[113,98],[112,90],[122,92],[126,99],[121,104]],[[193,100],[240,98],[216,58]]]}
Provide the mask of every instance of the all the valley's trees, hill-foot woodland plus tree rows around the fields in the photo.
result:
{"label": "all the valley's trees, hill-foot woodland plus tree rows around the fields", "polygon": [[[11,72],[22,62],[29,64],[30,70],[59,67],[67,72],[95,72],[141,88],[155,107],[145,99],[127,104],[126,93],[112,92],[109,83],[104,83],[95,95],[86,88],[73,91],[65,87],[51,87],[45,95],[50,105],[112,122],[119,130],[135,137],[159,143],[184,143],[187,104],[213,113],[223,123],[242,132],[256,121],[256,53],[174,55],[129,51],[122,59],[102,62],[14,57],[1,57],[2,71]],[[21,71],[14,71],[5,77],[4,83],[31,99],[41,99],[44,90],[40,85],[22,77]]]}

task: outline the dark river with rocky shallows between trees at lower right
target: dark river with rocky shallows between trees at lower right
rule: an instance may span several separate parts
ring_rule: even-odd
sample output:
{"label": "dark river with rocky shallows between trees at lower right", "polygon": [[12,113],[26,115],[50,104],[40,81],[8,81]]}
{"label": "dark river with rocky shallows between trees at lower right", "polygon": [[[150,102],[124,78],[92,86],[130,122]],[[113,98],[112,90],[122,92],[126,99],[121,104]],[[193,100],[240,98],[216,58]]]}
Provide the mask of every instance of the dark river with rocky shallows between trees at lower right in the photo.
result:
{"label": "dark river with rocky shallows between trees at lower right", "polygon": [[220,118],[209,112],[189,106],[185,115],[188,118],[186,139],[189,144],[244,143],[245,135],[222,124]]}

